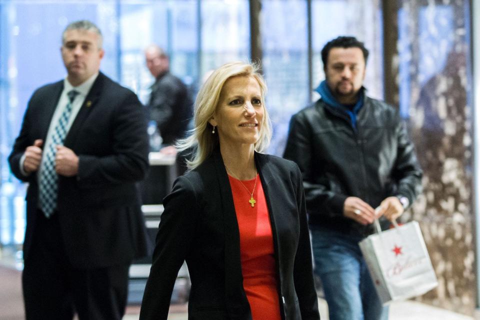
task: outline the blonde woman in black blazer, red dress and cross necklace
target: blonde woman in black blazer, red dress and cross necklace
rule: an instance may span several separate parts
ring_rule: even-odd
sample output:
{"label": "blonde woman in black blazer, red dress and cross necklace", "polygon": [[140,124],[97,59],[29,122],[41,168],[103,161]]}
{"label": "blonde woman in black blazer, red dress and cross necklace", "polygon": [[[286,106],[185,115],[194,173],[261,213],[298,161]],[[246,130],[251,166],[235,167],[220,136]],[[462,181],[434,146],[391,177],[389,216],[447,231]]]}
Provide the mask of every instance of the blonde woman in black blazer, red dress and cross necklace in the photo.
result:
{"label": "blonde woman in black blazer, red dress and cross necklace", "polygon": [[190,169],[164,199],[140,319],[166,319],[186,261],[188,319],[319,319],[301,175],[260,153],[271,135],[256,65],[227,63],[200,88]]}

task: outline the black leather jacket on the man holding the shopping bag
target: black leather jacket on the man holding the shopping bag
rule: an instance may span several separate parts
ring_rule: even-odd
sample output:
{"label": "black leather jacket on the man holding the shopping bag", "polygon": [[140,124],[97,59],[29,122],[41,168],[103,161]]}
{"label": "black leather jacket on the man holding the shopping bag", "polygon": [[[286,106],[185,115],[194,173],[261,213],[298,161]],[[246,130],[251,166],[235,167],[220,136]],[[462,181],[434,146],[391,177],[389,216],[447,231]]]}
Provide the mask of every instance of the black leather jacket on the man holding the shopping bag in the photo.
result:
{"label": "black leather jacket on the man holding the shopping bag", "polygon": [[371,225],[343,216],[348,196],[375,208],[392,195],[412,203],[421,192],[422,171],[398,111],[366,95],[357,130],[322,99],[294,114],[283,156],[302,172],[310,225],[364,236]]}

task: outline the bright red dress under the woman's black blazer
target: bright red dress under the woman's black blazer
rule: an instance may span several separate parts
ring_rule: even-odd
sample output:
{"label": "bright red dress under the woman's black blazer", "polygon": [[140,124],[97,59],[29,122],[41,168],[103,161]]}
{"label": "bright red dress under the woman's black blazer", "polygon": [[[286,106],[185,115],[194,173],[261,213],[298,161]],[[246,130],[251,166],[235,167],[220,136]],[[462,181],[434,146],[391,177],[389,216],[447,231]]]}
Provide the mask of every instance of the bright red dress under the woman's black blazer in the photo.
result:
{"label": "bright red dress under the woman's black blazer", "polygon": [[273,237],[265,194],[257,175],[253,192],[254,207],[249,203],[255,179],[240,180],[228,175],[236,219],[240,231],[240,260],[243,288],[253,320],[280,320]]}

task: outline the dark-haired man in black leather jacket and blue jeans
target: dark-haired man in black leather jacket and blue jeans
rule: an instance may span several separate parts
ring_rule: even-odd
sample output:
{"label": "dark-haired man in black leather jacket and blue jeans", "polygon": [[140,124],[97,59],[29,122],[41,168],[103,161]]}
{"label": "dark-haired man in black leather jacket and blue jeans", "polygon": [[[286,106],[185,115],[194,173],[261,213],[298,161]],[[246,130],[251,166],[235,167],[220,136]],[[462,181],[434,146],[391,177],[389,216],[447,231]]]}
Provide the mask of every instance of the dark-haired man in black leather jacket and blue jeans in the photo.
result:
{"label": "dark-haired man in black leather jacket and blue jeans", "polygon": [[293,115],[284,157],[303,175],[315,272],[330,320],[386,318],[358,241],[403,213],[421,169],[397,109],[365,95],[368,50],[340,36],[321,51],[321,98]]}

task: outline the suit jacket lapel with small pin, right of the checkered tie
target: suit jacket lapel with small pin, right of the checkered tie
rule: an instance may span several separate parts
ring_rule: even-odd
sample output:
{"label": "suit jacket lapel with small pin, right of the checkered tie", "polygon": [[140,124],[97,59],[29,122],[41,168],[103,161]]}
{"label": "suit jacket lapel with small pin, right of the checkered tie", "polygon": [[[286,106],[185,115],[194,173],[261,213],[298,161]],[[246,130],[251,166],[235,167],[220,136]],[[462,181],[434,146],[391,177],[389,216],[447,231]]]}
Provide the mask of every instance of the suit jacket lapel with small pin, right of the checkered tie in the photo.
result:
{"label": "suit jacket lapel with small pin, right of the checkered tie", "polygon": [[75,137],[77,136],[78,130],[81,129],[81,126],[85,119],[88,117],[90,110],[95,106],[98,98],[101,95],[103,89],[103,81],[104,81],[103,73],[99,72],[98,76],[96,77],[93,85],[90,88],[90,91],[85,97],[83,104],[80,107],[80,110],[76,114],[75,120],[71,124],[68,133],[66,134],[64,145],[72,146],[75,143]]}

